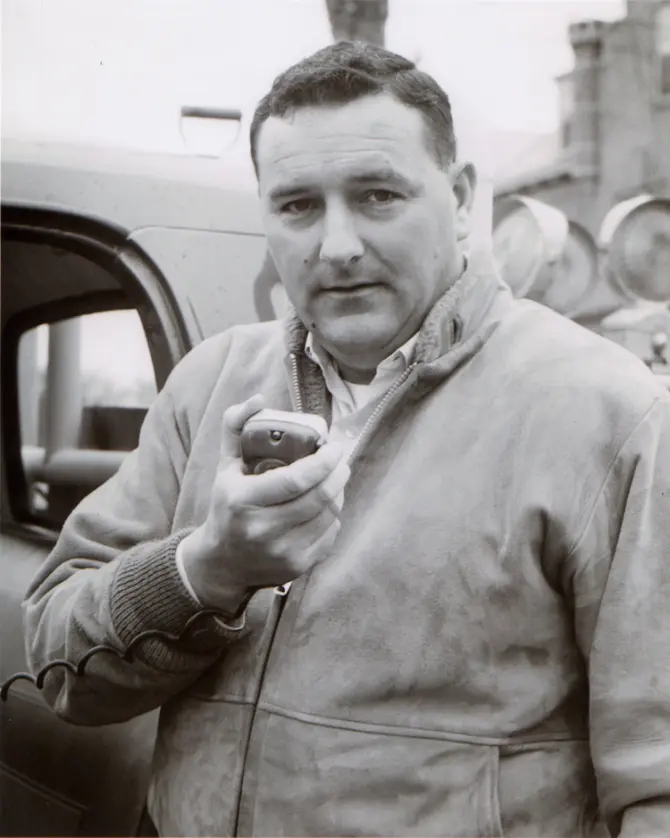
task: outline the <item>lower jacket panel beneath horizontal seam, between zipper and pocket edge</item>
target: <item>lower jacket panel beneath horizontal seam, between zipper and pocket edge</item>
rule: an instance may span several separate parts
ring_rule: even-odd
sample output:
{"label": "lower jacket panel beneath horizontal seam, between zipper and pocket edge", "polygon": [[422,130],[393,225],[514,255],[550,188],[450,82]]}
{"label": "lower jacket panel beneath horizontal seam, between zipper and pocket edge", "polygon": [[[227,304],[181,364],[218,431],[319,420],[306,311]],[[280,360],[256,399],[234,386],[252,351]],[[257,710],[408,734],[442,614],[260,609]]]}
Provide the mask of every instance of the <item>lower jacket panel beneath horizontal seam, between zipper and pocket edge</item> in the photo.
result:
{"label": "lower jacket panel beneath horizontal seam, between zipper and pocket edge", "polygon": [[240,834],[500,838],[497,750],[257,712]]}

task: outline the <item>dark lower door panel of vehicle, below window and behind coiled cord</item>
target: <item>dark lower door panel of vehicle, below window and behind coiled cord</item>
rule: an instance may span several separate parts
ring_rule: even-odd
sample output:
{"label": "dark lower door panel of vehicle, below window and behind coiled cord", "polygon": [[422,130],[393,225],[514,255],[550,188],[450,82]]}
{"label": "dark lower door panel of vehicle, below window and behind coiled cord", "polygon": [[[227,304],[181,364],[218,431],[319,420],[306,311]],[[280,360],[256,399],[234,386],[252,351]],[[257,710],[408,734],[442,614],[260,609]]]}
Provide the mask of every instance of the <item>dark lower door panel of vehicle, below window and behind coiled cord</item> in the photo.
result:
{"label": "dark lower door panel of vehicle, below window and behind coiled cord", "polygon": [[[0,536],[3,681],[25,671],[20,603],[50,546],[39,533]],[[77,727],[57,719],[26,682],[13,685],[1,709],[3,835],[133,834],[145,804],[156,713],[123,725]]]}

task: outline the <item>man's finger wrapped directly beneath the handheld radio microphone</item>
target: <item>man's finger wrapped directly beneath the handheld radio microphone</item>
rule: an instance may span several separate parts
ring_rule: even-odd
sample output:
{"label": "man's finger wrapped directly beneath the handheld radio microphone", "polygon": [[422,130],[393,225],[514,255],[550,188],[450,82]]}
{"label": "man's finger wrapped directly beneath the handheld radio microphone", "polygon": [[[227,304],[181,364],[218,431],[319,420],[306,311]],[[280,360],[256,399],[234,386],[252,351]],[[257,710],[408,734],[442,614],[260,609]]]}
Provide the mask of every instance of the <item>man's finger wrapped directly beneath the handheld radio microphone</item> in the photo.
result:
{"label": "man's finger wrapped directly beneath the handheld radio microphone", "polygon": [[342,458],[342,448],[327,442],[315,454],[291,465],[250,475],[245,481],[245,502],[254,506],[275,506],[299,498],[322,483]]}

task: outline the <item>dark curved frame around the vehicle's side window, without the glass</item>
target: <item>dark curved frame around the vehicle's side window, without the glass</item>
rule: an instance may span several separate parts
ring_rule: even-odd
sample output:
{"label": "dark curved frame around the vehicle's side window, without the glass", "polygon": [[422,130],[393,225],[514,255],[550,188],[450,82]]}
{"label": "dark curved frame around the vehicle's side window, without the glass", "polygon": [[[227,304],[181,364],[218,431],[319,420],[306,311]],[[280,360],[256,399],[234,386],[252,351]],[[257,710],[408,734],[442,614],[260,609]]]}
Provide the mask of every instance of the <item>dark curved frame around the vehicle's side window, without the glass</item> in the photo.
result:
{"label": "dark curved frame around the vehicle's side window, without the glass", "polygon": [[[37,304],[10,317],[2,331],[0,413],[3,449],[2,523],[54,530],[31,510],[21,445],[18,357],[21,337],[36,326],[110,310],[137,311],[160,391],[191,348],[189,333],[164,274],[129,231],[98,219],[57,210],[2,205],[2,239],[53,245],[108,271],[120,290],[93,291]],[[18,444],[16,441],[18,440]]]}

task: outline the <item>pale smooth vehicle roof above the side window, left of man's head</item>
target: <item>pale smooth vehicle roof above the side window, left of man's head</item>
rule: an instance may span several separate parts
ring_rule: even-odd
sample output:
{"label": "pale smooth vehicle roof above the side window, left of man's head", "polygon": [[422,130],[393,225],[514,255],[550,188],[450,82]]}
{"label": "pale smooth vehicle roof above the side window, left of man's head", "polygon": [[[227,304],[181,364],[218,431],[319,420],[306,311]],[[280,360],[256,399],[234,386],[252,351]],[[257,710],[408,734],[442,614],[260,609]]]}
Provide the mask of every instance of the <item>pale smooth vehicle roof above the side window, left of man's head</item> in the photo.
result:
{"label": "pale smooth vehicle roof above the side window, left of man's head", "polygon": [[151,153],[3,140],[2,203],[69,212],[126,233],[181,227],[262,235],[248,154]]}

